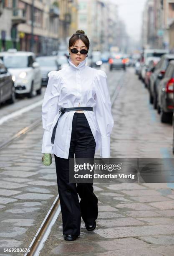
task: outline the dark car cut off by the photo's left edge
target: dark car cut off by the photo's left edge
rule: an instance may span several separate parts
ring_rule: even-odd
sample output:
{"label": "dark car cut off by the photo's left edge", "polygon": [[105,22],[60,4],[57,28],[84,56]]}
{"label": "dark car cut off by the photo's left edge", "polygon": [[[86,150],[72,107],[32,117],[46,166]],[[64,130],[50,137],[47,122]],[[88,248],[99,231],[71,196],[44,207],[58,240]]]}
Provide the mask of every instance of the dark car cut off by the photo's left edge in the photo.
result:
{"label": "dark car cut off by the photo's left edge", "polygon": [[5,101],[10,104],[15,102],[15,87],[12,75],[0,59],[0,104]]}

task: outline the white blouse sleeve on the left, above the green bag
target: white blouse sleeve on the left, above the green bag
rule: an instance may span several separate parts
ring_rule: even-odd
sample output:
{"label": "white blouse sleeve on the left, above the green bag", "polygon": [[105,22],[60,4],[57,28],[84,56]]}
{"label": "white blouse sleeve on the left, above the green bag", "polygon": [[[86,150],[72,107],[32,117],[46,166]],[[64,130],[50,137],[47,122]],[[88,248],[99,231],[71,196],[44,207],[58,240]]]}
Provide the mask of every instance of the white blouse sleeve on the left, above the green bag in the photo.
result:
{"label": "white blouse sleeve on the left, above the green bag", "polygon": [[43,133],[42,153],[53,154],[50,129],[58,113],[61,76],[57,71],[51,71],[48,73],[48,77],[48,84],[42,104],[42,125],[45,130]]}

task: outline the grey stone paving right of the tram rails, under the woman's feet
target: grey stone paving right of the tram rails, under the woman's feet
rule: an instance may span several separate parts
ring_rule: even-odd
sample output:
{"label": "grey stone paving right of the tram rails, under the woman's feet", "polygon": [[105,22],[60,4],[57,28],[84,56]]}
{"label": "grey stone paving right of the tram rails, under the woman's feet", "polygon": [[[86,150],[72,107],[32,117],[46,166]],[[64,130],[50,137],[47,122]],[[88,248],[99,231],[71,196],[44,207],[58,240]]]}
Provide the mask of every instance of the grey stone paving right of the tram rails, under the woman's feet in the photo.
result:
{"label": "grey stone paving right of the tram rails, under the woman's feet", "polygon": [[[160,123],[133,69],[125,81],[112,110],[111,157],[173,158],[171,125]],[[99,200],[96,229],[88,232],[82,220],[80,237],[65,241],[60,214],[40,255],[174,255],[174,190],[169,184],[93,187]]]}

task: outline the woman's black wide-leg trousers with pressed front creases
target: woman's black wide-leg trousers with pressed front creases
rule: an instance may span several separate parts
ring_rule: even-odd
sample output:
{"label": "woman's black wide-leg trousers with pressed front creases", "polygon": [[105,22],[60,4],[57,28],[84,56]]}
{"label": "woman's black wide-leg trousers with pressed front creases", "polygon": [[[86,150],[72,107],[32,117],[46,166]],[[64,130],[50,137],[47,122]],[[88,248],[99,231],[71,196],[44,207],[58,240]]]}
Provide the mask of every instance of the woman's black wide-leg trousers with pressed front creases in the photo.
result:
{"label": "woman's black wide-leg trousers with pressed front creases", "polygon": [[[81,217],[92,224],[98,217],[98,198],[93,183],[69,183],[69,158],[94,158],[96,142],[84,113],[74,113],[68,159],[55,157],[63,235],[80,235]],[[81,198],[78,200],[78,195]]]}

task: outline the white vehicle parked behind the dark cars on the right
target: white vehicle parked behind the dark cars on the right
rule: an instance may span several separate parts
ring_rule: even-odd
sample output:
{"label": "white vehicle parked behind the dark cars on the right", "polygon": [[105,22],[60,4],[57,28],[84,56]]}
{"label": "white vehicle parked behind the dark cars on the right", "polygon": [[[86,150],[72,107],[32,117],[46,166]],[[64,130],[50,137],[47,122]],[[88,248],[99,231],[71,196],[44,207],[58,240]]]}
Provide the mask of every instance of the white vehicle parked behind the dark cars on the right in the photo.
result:
{"label": "white vehicle parked behind the dark cars on the right", "polygon": [[148,61],[149,57],[161,57],[164,54],[167,54],[169,51],[168,50],[161,50],[161,49],[145,49],[141,53],[141,58],[140,58],[140,72],[139,72],[139,79],[141,79],[144,82],[145,79],[145,69],[148,67]]}

